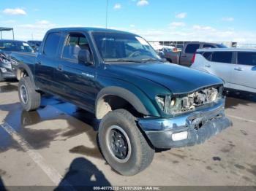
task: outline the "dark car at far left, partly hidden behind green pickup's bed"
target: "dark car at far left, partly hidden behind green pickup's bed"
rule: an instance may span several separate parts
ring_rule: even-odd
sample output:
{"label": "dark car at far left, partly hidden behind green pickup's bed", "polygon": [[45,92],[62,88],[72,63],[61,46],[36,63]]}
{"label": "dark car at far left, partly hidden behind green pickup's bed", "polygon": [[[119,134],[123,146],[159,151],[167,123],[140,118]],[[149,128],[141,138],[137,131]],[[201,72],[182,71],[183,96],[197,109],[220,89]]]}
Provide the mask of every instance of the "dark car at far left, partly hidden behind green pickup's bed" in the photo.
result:
{"label": "dark car at far left, partly hidden behind green pickup's bed", "polygon": [[[10,54],[12,52],[34,52],[27,42],[17,40],[0,40],[0,81],[15,79]],[[15,65],[15,61],[13,61]]]}

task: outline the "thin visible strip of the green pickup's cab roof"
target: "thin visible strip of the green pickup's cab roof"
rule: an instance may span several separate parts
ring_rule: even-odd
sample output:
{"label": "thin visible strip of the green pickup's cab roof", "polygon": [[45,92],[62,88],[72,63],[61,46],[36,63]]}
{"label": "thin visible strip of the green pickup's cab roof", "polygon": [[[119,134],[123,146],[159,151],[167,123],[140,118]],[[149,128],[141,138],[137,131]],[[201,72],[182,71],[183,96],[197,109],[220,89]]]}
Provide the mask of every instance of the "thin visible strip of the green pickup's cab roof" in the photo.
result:
{"label": "thin visible strip of the green pickup's cab roof", "polygon": [[52,28],[48,32],[53,32],[53,31],[86,31],[86,32],[99,31],[99,32],[118,32],[118,33],[123,33],[123,34],[132,34],[132,33],[129,33],[127,31],[118,31],[118,30],[115,30],[115,29],[94,28],[94,27]]}

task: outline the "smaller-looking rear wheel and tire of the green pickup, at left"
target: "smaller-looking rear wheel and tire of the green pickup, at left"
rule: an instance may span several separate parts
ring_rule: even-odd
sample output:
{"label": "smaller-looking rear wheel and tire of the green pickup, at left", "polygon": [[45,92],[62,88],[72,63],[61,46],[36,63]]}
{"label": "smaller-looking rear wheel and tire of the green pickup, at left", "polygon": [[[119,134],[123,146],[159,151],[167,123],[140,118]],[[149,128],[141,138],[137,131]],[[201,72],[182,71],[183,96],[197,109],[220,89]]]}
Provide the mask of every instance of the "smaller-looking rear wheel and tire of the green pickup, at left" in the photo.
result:
{"label": "smaller-looking rear wheel and tire of the green pickup, at left", "polygon": [[[22,96],[22,93],[26,91],[26,98]],[[41,95],[34,90],[29,77],[22,77],[18,85],[18,94],[20,98],[20,104],[27,112],[34,111],[39,108],[41,103]]]}

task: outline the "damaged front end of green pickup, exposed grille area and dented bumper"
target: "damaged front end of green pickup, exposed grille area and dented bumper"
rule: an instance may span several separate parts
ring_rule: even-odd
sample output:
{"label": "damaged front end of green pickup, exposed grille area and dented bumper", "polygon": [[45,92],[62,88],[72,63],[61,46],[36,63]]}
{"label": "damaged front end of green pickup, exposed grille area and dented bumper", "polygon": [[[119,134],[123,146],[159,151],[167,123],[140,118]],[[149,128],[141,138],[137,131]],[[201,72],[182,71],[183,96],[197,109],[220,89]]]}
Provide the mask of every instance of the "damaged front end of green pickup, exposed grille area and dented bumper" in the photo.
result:
{"label": "damaged front end of green pickup, exposed grille area and dented bumper", "polygon": [[156,148],[201,144],[232,125],[225,117],[222,86],[206,87],[173,98],[165,97],[162,104],[163,111],[172,117],[138,120],[140,128]]}

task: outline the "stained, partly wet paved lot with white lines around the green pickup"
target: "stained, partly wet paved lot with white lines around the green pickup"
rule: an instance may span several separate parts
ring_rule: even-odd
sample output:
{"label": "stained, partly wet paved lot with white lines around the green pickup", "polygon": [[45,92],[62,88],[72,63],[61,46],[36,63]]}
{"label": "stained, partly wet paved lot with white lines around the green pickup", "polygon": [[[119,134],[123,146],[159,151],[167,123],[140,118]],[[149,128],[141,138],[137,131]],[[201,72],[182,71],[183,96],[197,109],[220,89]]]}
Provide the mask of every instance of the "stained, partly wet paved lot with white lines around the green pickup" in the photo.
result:
{"label": "stained, partly wet paved lot with white lines around the green pickup", "polygon": [[233,121],[205,144],[157,152],[136,176],[121,176],[97,147],[97,120],[51,96],[24,112],[17,82],[0,82],[0,181],[15,185],[256,185],[256,98],[227,98]]}

